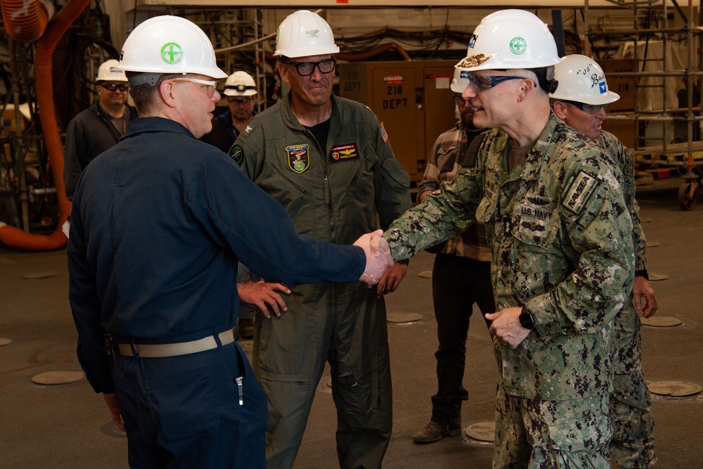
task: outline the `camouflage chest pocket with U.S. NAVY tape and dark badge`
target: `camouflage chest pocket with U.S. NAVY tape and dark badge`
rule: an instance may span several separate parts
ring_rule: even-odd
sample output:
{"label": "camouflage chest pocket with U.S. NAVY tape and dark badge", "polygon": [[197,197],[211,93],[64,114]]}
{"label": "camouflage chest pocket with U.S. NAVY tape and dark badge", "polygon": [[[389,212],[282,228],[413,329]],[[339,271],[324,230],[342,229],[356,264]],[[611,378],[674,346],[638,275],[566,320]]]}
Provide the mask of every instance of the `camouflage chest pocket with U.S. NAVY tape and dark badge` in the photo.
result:
{"label": "camouflage chest pocket with U.S. NAVY tape and dark badge", "polygon": [[557,233],[558,214],[550,198],[527,195],[515,205],[515,236],[524,244],[543,247],[550,244]]}

